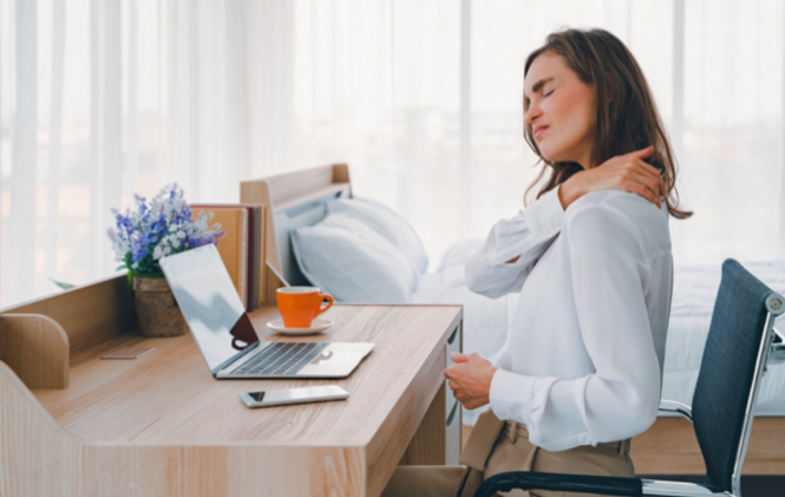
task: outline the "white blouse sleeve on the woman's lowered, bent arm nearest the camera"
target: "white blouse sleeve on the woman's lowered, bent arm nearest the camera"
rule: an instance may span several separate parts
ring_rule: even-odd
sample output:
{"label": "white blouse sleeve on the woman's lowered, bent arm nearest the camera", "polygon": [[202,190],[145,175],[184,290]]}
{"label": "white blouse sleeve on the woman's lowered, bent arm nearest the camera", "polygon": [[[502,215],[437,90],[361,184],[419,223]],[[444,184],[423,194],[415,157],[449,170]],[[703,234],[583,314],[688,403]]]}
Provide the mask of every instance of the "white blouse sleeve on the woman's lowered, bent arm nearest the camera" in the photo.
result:
{"label": "white blouse sleeve on the woman's lowered, bent arm nearest the camera", "polygon": [[660,401],[660,363],[645,295],[651,260],[638,228],[611,208],[579,210],[566,221],[580,334],[595,372],[561,380],[502,369],[491,408],[525,423],[548,451],[625,440],[645,432]]}

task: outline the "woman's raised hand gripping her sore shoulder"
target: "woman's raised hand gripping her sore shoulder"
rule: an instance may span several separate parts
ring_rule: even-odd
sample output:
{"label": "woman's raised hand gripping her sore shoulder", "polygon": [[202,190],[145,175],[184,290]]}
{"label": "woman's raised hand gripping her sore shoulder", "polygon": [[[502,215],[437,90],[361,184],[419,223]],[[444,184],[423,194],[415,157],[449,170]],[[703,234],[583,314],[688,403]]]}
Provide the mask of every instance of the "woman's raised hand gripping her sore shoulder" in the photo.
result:
{"label": "woman's raised hand gripping her sore shoulder", "polygon": [[638,193],[661,208],[660,198],[667,197],[667,188],[660,171],[643,161],[655,148],[616,156],[596,168],[578,171],[562,183],[558,200],[566,210],[571,203],[593,191],[620,190]]}

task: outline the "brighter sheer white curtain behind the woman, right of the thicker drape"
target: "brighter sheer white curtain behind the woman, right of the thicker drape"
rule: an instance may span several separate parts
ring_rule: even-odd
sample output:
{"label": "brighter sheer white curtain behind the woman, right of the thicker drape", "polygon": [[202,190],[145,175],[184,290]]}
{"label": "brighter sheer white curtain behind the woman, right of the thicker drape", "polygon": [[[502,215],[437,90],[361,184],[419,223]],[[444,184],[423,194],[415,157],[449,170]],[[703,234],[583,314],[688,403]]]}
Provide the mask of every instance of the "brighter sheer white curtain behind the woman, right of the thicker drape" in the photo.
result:
{"label": "brighter sheer white curtain behind the woman, right of the thicker drape", "polygon": [[292,151],[265,166],[347,161],[357,194],[411,221],[432,268],[523,207],[540,170],[522,138],[523,64],[564,27],[611,31],[647,75],[695,212],[671,222],[677,262],[782,256],[783,1],[294,4]]}

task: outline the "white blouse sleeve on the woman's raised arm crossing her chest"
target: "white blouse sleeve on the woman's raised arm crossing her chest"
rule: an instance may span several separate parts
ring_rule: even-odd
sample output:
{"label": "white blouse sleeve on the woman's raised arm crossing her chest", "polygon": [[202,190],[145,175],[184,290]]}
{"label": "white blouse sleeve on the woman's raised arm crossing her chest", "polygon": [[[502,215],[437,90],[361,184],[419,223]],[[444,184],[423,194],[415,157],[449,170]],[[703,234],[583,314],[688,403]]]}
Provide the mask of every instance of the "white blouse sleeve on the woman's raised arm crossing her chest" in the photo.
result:
{"label": "white blouse sleeve on the woman's raised arm crossing her chest", "polygon": [[[558,188],[517,215],[493,225],[485,243],[467,264],[470,290],[491,298],[521,290],[534,265],[562,231],[564,209]],[[506,263],[519,255],[514,263]]]}

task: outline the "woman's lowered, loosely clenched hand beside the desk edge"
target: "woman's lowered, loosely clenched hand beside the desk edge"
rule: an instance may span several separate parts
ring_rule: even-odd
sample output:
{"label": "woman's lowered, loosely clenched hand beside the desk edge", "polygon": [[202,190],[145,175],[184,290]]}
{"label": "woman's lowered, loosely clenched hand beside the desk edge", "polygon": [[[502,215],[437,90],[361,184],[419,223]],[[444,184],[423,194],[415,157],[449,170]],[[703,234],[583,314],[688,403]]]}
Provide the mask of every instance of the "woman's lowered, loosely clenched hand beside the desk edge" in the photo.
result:
{"label": "woman's lowered, loosely clenched hand beside the desk edge", "polygon": [[491,380],[496,368],[479,353],[452,352],[456,362],[444,370],[456,399],[467,409],[482,408],[491,401]]}

